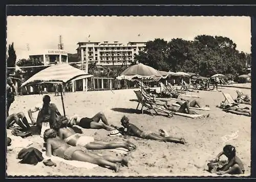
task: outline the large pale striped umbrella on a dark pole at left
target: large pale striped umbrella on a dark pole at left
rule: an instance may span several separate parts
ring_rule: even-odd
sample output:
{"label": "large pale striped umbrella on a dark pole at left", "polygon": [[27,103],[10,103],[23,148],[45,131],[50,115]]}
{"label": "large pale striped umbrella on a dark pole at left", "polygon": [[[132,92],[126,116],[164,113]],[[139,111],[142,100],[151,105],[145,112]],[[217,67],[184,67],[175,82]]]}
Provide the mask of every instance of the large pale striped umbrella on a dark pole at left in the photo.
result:
{"label": "large pale striped umbrella on a dark pole at left", "polygon": [[[86,72],[79,70],[69,64],[61,63],[61,64],[52,65],[38,72],[37,74],[30,77],[27,81],[25,81],[21,86],[26,86],[28,84],[34,84],[39,82],[67,83],[77,78],[83,79],[83,78],[90,78],[90,77],[93,77],[93,75],[89,75]],[[61,95],[64,116],[66,116],[62,90],[60,92],[60,95]]]}

